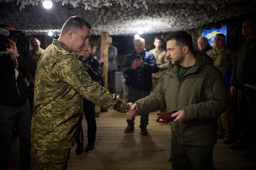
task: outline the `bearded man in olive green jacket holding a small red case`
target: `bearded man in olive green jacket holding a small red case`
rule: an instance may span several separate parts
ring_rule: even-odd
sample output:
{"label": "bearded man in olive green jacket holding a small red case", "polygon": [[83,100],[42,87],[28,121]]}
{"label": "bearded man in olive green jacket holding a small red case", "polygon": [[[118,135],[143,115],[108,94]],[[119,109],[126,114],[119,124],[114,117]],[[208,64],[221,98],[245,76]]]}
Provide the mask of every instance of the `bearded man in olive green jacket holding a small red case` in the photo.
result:
{"label": "bearded man in olive green jacket holding a small red case", "polygon": [[161,108],[178,110],[171,122],[173,169],[214,169],[218,115],[227,106],[223,77],[210,57],[193,52],[192,38],[186,32],[169,34],[165,41],[172,65],[164,71],[155,90],[137,100],[132,109],[139,114]]}

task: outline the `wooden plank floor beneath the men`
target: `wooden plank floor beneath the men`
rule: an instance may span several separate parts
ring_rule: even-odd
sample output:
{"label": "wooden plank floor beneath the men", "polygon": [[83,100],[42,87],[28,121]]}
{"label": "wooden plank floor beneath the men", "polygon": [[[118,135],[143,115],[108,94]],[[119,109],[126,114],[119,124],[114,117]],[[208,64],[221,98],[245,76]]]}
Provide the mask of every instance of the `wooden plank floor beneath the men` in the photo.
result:
{"label": "wooden plank floor beneath the men", "polygon": [[[124,134],[126,118],[124,113],[114,110],[100,113],[96,118],[98,131],[96,134],[96,148],[92,152],[75,155],[75,146],[70,153],[68,170],[119,170],[119,169],[171,169],[168,162],[170,151],[170,126],[169,124],[156,123],[156,113],[150,113],[148,136],[139,134],[140,117],[135,119],[134,132]],[[83,130],[86,134],[87,124],[83,119]],[[85,144],[87,136],[85,136]],[[215,145],[213,161],[215,169],[256,169],[256,161],[248,161],[242,157],[245,151],[231,150],[218,140]],[[15,170],[19,164],[19,140],[14,140],[12,146],[9,170]],[[35,152],[32,149],[32,170],[39,169]]]}

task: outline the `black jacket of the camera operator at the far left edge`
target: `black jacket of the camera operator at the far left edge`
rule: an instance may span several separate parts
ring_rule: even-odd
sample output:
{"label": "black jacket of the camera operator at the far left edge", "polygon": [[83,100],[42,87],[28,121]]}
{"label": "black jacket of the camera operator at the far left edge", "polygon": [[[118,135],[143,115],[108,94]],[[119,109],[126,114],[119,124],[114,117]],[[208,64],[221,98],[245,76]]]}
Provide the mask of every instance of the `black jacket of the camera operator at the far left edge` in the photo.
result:
{"label": "black jacket of the camera operator at the far left edge", "polygon": [[0,105],[15,106],[27,100],[27,86],[18,69],[14,68],[14,56],[0,52]]}

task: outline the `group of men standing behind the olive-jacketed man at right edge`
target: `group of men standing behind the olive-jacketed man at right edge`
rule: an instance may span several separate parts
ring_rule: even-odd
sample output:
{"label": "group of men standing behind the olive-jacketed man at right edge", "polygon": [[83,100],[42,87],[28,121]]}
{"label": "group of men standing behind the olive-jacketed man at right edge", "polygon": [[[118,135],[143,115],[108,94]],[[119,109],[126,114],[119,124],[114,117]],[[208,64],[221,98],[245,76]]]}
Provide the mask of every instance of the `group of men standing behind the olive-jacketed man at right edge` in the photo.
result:
{"label": "group of men standing behind the olive-jacketed man at right edge", "polygon": [[228,107],[218,118],[217,137],[234,150],[249,149],[247,159],[256,158],[255,119],[256,79],[252,76],[255,55],[255,20],[245,18],[242,23],[244,40],[236,50],[229,49],[224,34],[216,34],[214,48],[207,38],[198,39],[198,49],[206,52],[223,75],[228,91]]}

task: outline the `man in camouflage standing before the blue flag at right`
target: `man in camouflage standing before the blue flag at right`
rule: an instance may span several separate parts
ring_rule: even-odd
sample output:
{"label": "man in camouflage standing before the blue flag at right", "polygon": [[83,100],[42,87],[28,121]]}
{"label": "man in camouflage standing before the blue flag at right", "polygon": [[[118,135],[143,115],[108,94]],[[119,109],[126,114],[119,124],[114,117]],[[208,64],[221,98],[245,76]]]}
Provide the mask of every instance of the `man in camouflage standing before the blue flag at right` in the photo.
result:
{"label": "man in camouflage standing before the blue flag at right", "polygon": [[207,54],[213,59],[213,64],[217,67],[224,78],[226,87],[228,88],[229,105],[224,113],[218,119],[218,138],[223,138],[224,144],[234,142],[234,123],[232,111],[232,97],[229,92],[230,78],[234,61],[234,52],[225,46],[225,35],[216,34],[214,39],[215,47],[207,51]]}

